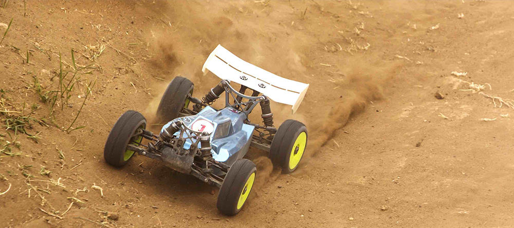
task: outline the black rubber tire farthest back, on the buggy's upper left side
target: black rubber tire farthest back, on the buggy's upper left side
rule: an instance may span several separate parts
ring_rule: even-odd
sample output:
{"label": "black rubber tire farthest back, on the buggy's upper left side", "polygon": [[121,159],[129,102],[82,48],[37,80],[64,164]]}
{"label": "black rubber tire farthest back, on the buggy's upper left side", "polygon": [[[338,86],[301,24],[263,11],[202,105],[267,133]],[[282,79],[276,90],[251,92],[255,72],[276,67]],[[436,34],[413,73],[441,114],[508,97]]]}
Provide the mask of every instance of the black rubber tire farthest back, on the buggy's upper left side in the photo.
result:
{"label": "black rubber tire farthest back, on the buggy's upper left side", "polygon": [[157,120],[168,122],[177,118],[180,111],[189,106],[190,102],[186,103],[186,100],[188,95],[193,94],[193,88],[193,82],[189,79],[180,76],[173,78],[162,94],[156,113]]}

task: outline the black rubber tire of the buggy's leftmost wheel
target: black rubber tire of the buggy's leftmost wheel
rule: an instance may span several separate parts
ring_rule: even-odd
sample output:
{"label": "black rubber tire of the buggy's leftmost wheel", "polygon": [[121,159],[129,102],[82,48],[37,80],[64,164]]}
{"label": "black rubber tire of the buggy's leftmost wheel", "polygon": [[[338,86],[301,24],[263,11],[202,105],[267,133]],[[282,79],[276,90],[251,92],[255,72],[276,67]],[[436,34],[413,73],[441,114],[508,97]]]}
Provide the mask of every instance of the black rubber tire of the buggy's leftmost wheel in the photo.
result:
{"label": "black rubber tire of the buggy's leftmost wheel", "polygon": [[122,167],[130,158],[124,160],[128,143],[138,128],[146,128],[146,119],[141,113],[128,110],[118,118],[111,133],[107,137],[103,150],[103,158],[114,167]]}

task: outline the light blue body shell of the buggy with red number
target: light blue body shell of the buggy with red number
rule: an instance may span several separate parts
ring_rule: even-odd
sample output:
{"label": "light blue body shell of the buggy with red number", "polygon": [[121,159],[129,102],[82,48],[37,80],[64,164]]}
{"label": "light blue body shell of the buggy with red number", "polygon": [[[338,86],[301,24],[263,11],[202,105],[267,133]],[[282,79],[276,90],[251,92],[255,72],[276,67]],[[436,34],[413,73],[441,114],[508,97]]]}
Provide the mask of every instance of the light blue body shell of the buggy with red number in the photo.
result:
{"label": "light blue body shell of the buggy with red number", "polygon": [[[200,130],[193,128],[195,122],[204,123],[204,125],[200,125],[200,123],[197,124],[202,127],[201,130],[206,128],[205,125],[209,125],[210,123],[212,126],[208,126],[207,129],[212,128],[212,157],[216,161],[231,165],[237,159],[245,156],[250,147],[250,138],[252,137],[255,127],[243,123],[246,118],[244,113],[238,112],[231,107],[216,111],[210,106],[207,106],[196,115],[178,117],[168,122],[162,127],[161,132],[176,120],[181,120],[195,131]],[[178,136],[178,134],[179,132],[175,133],[175,136]],[[192,141],[190,139],[186,140],[183,149],[189,150],[191,143]]]}

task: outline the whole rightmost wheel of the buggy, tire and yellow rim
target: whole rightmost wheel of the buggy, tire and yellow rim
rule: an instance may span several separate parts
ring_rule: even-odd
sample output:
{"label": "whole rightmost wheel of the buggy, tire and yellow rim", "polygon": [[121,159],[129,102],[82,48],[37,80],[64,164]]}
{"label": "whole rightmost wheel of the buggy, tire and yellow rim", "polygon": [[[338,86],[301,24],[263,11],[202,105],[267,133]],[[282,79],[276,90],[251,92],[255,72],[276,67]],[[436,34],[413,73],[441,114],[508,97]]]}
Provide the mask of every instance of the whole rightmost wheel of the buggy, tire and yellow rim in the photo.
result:
{"label": "whole rightmost wheel of the buggy, tire and yellow rim", "polygon": [[307,146],[307,128],[297,120],[288,119],[280,125],[269,151],[269,158],[282,172],[291,173],[298,168]]}

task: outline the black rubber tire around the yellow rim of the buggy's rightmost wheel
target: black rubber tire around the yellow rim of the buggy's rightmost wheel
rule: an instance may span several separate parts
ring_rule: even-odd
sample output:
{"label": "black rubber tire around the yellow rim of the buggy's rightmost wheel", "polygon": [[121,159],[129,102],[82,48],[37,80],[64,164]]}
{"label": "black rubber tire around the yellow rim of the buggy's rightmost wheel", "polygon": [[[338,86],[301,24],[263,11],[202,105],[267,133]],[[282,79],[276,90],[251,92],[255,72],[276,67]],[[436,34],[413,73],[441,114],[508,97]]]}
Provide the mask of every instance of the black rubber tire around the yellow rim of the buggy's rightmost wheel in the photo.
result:
{"label": "black rubber tire around the yellow rim of the buggy's rightmost wheel", "polygon": [[[273,141],[271,141],[268,157],[271,162],[273,162],[273,165],[282,168],[283,173],[292,173],[298,168],[298,164],[293,169],[289,168],[289,158],[293,146],[295,146],[294,143],[302,132],[305,132],[305,141],[307,141],[308,134],[305,125],[300,121],[288,119],[284,121],[282,125],[280,125],[277,133],[273,137]],[[304,154],[305,150],[302,154],[302,157]],[[300,160],[301,159],[302,158],[300,157]]]}

